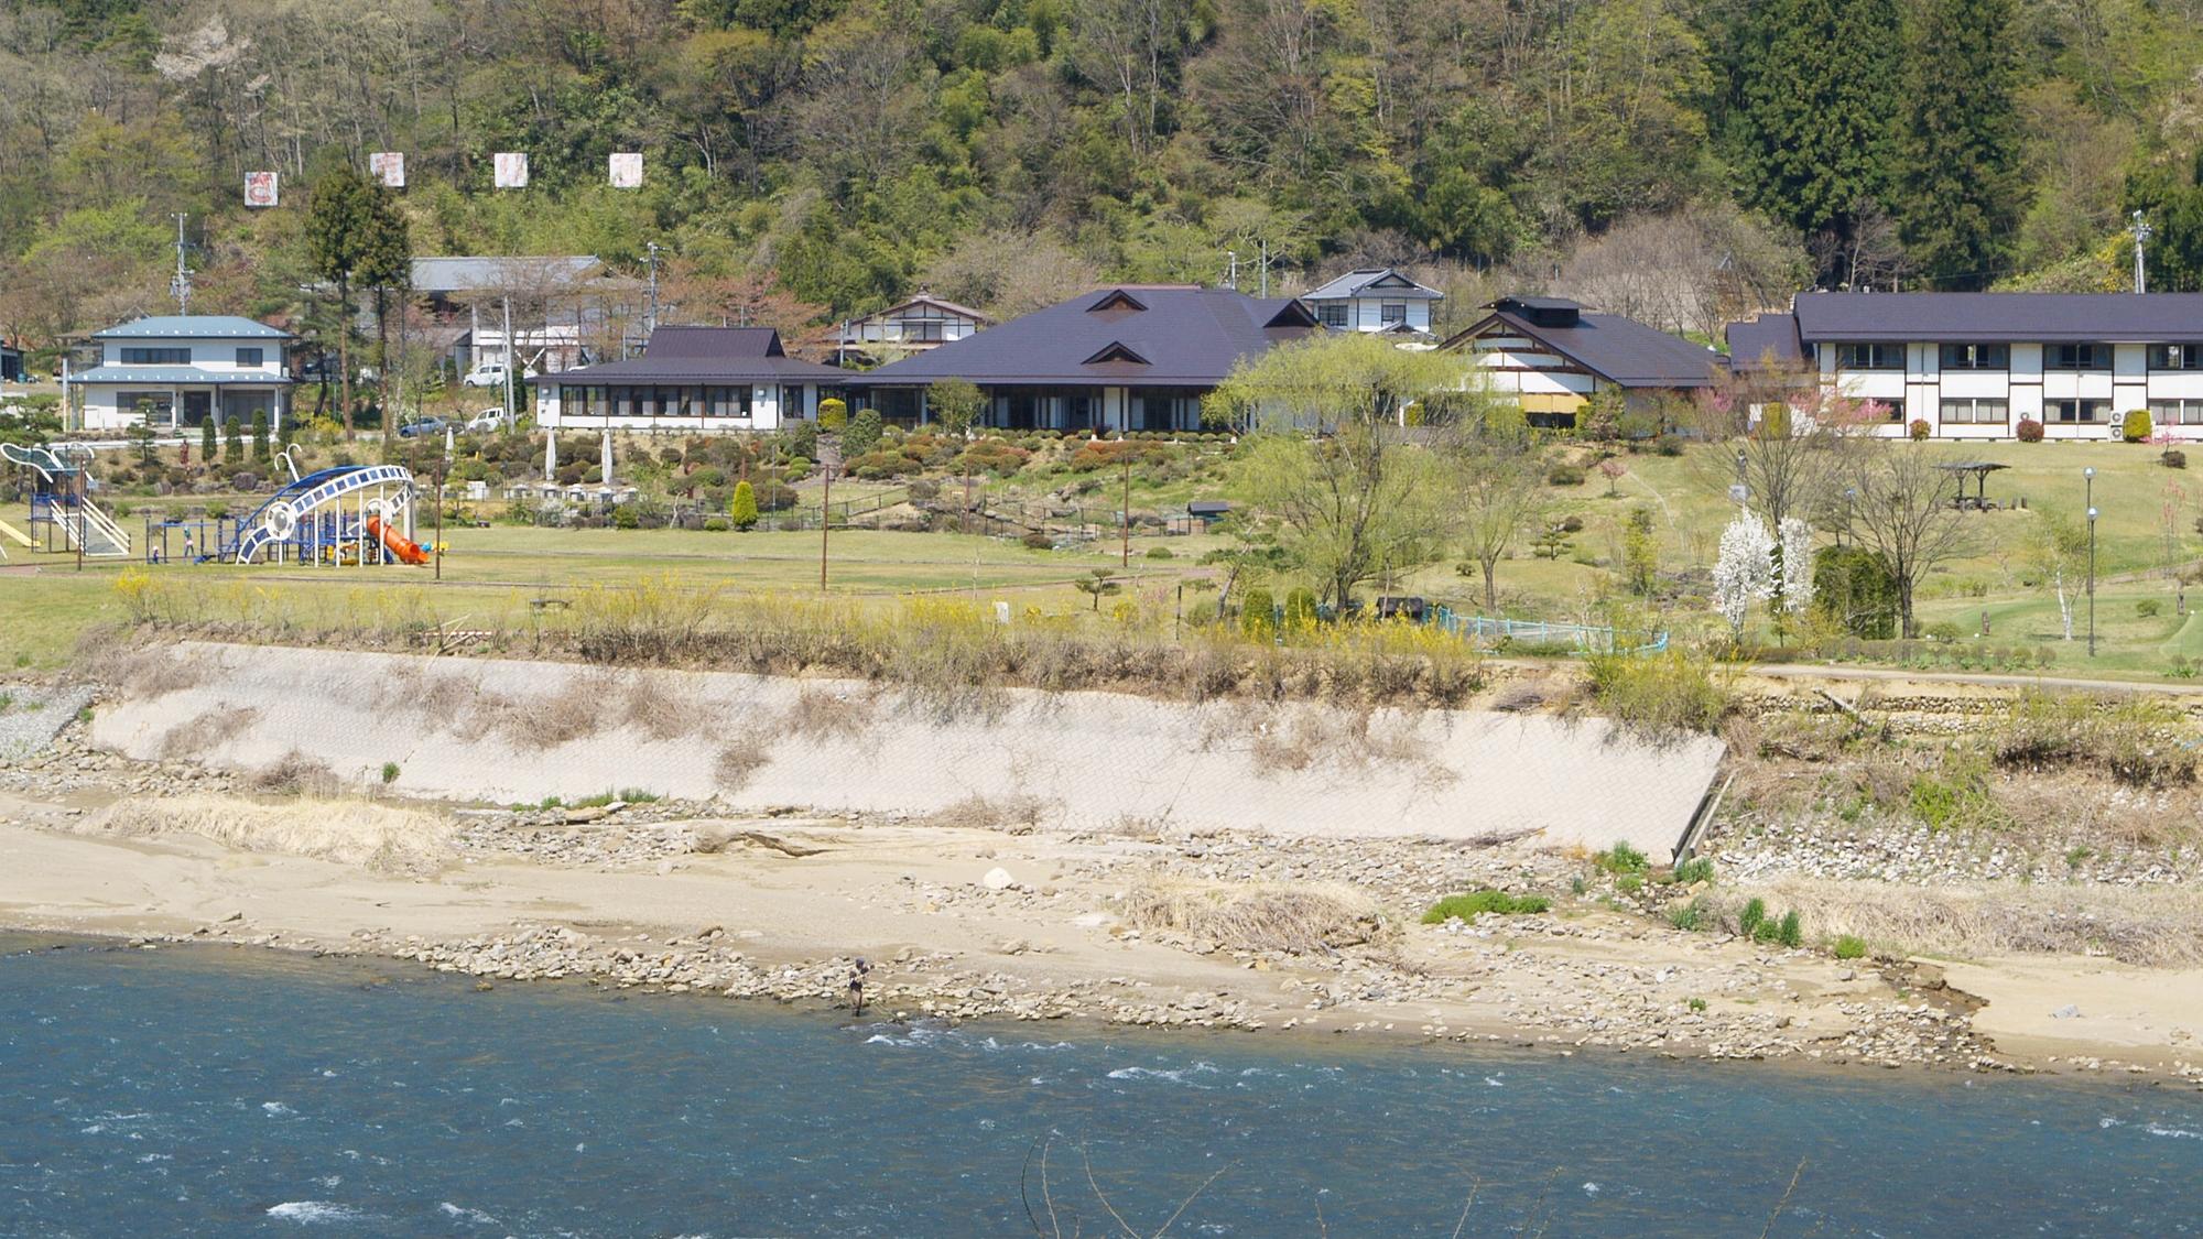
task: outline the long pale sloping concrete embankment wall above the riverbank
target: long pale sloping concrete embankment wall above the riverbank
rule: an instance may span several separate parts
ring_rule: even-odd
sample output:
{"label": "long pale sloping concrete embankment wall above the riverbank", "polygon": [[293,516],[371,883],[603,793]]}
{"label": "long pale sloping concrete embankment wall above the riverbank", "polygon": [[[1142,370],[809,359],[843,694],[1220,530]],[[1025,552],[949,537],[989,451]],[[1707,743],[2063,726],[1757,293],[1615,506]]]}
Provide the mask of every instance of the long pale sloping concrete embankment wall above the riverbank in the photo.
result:
{"label": "long pale sloping concrete embankment wall above the riverbank", "polygon": [[[93,741],[245,772],[322,765],[491,802],[612,789],[729,809],[958,809],[1108,829],[1628,840],[1665,858],[1721,761],[1599,719],[1150,701],[278,646],[141,650]],[[980,809],[976,802],[985,800]]]}

